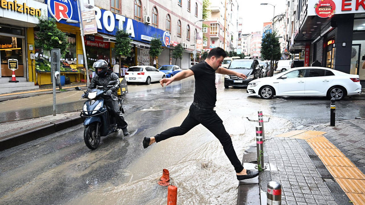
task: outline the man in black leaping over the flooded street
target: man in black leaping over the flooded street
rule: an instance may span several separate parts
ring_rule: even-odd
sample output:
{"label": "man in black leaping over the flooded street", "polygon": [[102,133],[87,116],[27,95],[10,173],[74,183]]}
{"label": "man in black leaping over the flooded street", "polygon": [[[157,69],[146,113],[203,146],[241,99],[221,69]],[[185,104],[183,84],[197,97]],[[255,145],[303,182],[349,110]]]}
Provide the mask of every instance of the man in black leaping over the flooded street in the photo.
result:
{"label": "man in black leaping over the flooded street", "polygon": [[246,170],[243,168],[236,152],[234,151],[231,136],[226,132],[223,121],[214,111],[217,92],[215,87],[215,73],[235,75],[237,77],[246,79],[245,74],[238,73],[233,70],[228,70],[221,67],[223,59],[227,56],[226,51],[220,47],[212,49],[205,61],[195,64],[187,70],[183,70],[171,78],[162,78],[160,84],[169,85],[173,81],[179,81],[184,78],[195,77],[195,93],[192,105],[189,108],[188,116],[179,127],[169,128],[154,137],[145,137],[143,139],[143,148],[147,148],[152,143],[161,142],[173,136],[184,135],[196,125],[202,124],[206,127],[223,146],[228,159],[232,163],[236,173],[237,179],[249,179],[256,177],[258,171]]}

